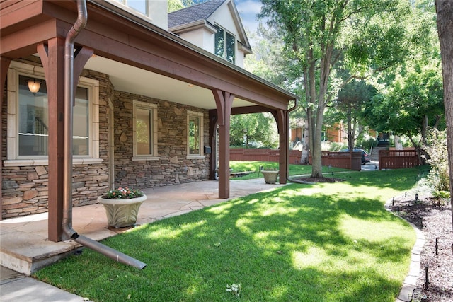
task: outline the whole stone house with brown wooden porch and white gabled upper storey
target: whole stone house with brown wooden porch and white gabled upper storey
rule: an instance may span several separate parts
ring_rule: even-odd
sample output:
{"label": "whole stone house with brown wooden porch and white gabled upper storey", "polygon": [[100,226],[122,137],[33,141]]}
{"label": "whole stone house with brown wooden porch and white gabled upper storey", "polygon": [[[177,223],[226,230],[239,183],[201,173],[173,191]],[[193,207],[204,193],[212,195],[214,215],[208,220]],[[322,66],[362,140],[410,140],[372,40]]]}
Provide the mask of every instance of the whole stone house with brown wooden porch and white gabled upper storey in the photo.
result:
{"label": "whole stone house with brown wooden porch and white gabled upper storey", "polygon": [[[232,0],[197,6],[210,9],[197,20],[190,13],[193,35],[184,23],[168,31],[173,13],[167,16],[166,1],[131,1],[132,8],[86,2],[88,22],[73,60],[74,206],[96,203],[111,187],[212,180],[216,169],[219,198],[228,198],[231,114],[273,113],[280,175],[287,175],[288,108],[296,96],[241,69],[250,46]],[[48,211],[53,241],[65,239],[64,108],[71,81],[64,80],[64,50],[80,3],[11,0],[0,7],[1,218]]]}

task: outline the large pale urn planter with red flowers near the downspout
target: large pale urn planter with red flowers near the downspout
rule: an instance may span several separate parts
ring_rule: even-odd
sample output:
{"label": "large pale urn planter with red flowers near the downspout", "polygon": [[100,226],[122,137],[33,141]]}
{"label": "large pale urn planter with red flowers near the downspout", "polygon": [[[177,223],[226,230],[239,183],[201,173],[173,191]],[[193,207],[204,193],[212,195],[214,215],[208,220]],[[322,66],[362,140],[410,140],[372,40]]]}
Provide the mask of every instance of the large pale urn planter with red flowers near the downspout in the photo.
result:
{"label": "large pale urn planter with red flowers near the downspout", "polygon": [[142,190],[129,187],[118,187],[98,197],[98,202],[105,208],[108,226],[115,228],[133,226],[137,222],[139,208],[145,200],[147,195]]}

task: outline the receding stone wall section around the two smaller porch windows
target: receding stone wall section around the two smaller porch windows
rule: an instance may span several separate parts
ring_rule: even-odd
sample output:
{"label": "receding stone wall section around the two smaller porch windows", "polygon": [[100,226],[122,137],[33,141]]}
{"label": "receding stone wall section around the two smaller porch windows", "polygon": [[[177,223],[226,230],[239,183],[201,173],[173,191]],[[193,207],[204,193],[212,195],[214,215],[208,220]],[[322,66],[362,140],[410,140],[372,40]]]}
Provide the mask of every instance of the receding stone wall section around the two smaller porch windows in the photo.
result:
{"label": "receding stone wall section around the two smaller porch windows", "polygon": [[[132,161],[132,103],[157,104],[158,157],[154,161]],[[188,105],[115,91],[115,186],[139,189],[194,182],[209,178],[209,156],[187,159],[187,111],[202,112],[203,141],[208,145],[207,110]]]}

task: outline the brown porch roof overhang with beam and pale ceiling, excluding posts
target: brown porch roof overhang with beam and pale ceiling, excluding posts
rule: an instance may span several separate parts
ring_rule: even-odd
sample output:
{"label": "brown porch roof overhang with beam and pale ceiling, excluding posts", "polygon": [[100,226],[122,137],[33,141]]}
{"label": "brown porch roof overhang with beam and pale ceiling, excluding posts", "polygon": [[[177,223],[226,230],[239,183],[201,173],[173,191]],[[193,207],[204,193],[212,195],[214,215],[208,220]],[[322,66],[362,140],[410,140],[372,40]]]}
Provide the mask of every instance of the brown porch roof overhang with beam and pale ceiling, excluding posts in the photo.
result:
{"label": "brown porch roof overhang with beam and pale ceiling, excluding posts", "polygon": [[[55,37],[64,38],[76,19],[76,1],[17,1],[9,6],[2,2],[0,17],[1,56],[18,59],[34,54],[39,43]],[[193,100],[186,98],[185,102],[193,102],[200,108],[215,108],[212,90],[235,95],[235,107],[262,105],[272,110],[287,110],[289,101],[297,98],[106,1],[88,0],[88,23],[76,44],[90,47],[98,56],[90,59],[86,68],[110,74],[115,88],[129,87],[127,91],[134,93],[139,91],[139,80],[147,83],[141,84],[142,89],[162,80],[161,87],[166,88],[167,93],[176,90],[169,85],[196,86],[192,87],[195,88],[193,91],[200,93],[193,93]],[[135,76],[125,76],[125,72],[115,74],[110,69],[127,70]],[[172,100],[168,94],[150,93],[155,98]],[[182,103],[184,95],[189,94],[175,98]],[[201,97],[202,102],[195,102],[195,98]]]}

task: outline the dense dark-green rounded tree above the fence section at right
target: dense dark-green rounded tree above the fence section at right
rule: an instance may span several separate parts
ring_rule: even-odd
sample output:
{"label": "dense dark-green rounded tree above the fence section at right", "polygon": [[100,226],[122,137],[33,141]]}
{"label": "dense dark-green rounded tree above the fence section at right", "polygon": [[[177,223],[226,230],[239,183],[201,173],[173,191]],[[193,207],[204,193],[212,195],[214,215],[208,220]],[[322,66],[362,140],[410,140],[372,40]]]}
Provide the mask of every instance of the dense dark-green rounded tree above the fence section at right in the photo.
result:
{"label": "dense dark-green rounded tree above the fence section at right", "polygon": [[414,137],[430,127],[445,127],[440,62],[416,65],[398,74],[386,91],[367,102],[364,115],[370,127],[406,135],[420,148]]}

